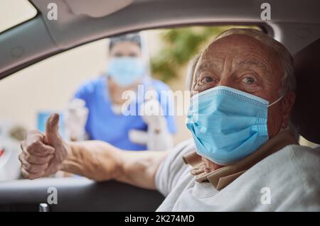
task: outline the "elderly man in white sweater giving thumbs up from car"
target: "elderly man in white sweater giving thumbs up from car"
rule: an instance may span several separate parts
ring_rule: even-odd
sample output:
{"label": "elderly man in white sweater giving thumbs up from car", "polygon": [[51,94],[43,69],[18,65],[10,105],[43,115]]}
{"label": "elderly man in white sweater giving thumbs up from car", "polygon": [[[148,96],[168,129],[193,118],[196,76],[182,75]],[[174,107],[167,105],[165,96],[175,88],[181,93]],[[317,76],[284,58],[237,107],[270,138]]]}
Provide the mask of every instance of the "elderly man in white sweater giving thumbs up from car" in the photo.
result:
{"label": "elderly man in white sweater giving thumbs up from car", "polygon": [[319,211],[320,154],[299,146],[290,128],[295,79],[286,48],[257,30],[227,30],[190,80],[193,140],[170,152],[64,142],[51,115],[46,134],[28,132],[21,145],[23,176],[63,170],[157,189],[166,196],[159,211]]}

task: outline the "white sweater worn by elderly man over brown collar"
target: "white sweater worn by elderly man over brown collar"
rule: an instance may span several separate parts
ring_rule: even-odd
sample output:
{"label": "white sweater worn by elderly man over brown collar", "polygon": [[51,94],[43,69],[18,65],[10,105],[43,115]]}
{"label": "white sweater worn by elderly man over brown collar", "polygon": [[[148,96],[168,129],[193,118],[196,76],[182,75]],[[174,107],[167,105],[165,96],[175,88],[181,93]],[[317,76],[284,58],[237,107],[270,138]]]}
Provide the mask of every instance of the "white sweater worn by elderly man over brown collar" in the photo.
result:
{"label": "white sweater worn by elderly man over brown collar", "polygon": [[160,164],[156,188],[166,198],[157,211],[320,211],[319,150],[288,145],[217,191],[184,164],[194,149],[182,142]]}

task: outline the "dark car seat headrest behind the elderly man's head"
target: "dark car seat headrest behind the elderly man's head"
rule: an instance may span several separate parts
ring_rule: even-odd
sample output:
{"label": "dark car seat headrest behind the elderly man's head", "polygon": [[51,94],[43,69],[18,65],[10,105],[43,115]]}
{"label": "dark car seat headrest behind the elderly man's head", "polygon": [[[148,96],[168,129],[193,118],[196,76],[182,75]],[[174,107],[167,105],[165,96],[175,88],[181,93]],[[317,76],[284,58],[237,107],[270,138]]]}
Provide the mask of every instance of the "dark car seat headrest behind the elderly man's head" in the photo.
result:
{"label": "dark car seat headrest behind the elderly man's head", "polygon": [[292,123],[300,135],[320,144],[320,38],[294,55],[297,98]]}

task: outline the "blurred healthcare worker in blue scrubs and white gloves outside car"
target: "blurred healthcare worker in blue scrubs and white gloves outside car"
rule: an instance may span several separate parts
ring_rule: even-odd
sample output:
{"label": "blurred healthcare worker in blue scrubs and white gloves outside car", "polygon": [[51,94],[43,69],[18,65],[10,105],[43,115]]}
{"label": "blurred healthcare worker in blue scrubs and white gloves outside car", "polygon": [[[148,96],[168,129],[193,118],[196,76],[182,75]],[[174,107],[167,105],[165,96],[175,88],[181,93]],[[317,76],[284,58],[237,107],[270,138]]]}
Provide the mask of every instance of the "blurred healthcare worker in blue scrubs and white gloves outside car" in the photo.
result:
{"label": "blurred healthcare worker in blue scrubs and white gloves outside car", "polygon": [[[90,140],[103,140],[127,150],[168,149],[172,146],[172,133],[176,131],[174,116],[170,108],[172,99],[169,86],[151,79],[149,57],[142,35],[131,33],[110,38],[109,62],[106,73],[83,84],[75,98],[85,101],[88,110],[85,132]],[[136,97],[129,100],[130,107],[147,111],[161,108],[162,114],[124,114],[124,91],[132,91]],[[147,91],[154,91],[156,97],[145,99]],[[166,100],[161,94],[164,91]],[[146,102],[148,102],[146,104]],[[150,108],[151,106],[151,108]],[[141,114],[142,113],[142,114]],[[68,124],[68,123],[67,123]],[[81,124],[81,123],[80,123]]]}

